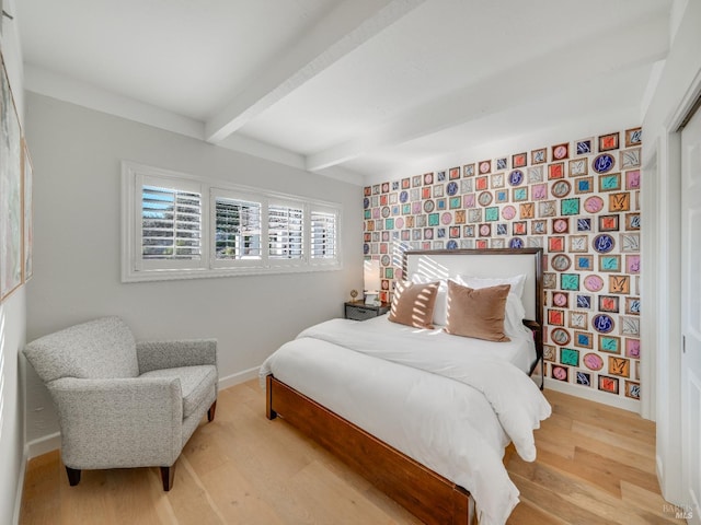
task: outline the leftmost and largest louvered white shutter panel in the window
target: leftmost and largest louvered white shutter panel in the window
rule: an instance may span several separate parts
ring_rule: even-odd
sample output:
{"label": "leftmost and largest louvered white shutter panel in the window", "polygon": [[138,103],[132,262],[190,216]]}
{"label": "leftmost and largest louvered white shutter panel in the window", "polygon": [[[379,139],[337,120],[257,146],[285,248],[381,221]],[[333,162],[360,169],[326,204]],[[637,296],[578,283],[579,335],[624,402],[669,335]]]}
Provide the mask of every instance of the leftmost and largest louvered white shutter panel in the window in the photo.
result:
{"label": "leftmost and largest louvered white shutter panel in the window", "polygon": [[202,196],[143,185],[141,188],[143,260],[202,258]]}

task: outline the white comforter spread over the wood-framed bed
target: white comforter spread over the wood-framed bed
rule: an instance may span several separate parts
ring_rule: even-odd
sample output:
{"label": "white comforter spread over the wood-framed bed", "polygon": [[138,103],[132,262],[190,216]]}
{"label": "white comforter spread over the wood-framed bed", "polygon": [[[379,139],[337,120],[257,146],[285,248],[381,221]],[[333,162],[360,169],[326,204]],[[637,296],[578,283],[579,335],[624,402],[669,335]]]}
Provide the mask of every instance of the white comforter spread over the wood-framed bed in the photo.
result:
{"label": "white comforter spread over the wood-framed bed", "polygon": [[504,447],[513,441],[533,460],[532,430],[551,409],[499,345],[384,317],[333,319],[283,345],[260,375],[273,373],[469,490],[481,525],[504,524],[518,502]]}

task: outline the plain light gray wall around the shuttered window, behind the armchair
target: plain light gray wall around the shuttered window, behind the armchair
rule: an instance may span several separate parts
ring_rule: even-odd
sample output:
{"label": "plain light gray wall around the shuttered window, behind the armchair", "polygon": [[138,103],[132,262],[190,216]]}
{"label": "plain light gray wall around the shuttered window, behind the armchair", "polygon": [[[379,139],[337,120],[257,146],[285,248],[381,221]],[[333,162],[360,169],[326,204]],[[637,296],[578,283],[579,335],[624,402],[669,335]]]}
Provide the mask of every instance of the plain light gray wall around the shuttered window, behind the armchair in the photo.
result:
{"label": "plain light gray wall around the shuttered window, behind the armchair", "polygon": [[[35,177],[27,340],[116,314],[137,339],[216,337],[220,376],[231,384],[302,328],[341,316],[348,291],[361,285],[360,187],[34,93],[26,104]],[[343,269],[124,284],[122,160],[340,202]],[[30,368],[27,441],[57,430]]]}

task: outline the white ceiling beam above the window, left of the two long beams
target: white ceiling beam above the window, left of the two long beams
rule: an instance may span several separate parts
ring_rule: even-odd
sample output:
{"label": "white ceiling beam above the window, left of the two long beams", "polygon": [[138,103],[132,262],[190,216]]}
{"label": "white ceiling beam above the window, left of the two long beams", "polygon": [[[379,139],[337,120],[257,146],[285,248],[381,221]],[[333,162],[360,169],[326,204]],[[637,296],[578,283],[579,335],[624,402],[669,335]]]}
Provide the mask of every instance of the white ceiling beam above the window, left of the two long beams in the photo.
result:
{"label": "white ceiling beam above the window, left of the two long beams", "polygon": [[425,0],[345,0],[208,119],[218,143]]}

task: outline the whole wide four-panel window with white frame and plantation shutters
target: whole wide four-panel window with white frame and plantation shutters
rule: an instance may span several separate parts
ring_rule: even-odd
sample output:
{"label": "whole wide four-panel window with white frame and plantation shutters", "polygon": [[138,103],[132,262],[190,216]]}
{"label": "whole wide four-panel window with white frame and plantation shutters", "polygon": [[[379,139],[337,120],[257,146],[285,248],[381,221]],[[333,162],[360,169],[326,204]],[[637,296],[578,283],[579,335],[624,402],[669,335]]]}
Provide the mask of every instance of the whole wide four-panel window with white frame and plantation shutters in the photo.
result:
{"label": "whole wide four-panel window with white frame and plantation shutters", "polygon": [[123,163],[122,280],[340,268],[340,208]]}

